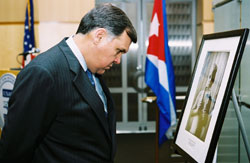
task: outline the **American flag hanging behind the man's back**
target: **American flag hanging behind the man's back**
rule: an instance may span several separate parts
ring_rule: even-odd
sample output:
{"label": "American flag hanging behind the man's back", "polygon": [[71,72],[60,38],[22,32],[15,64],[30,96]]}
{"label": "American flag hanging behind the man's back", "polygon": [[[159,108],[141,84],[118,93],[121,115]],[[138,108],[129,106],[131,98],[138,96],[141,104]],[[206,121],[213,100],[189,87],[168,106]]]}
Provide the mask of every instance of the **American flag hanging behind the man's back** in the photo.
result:
{"label": "American flag hanging behind the man's back", "polygon": [[27,0],[23,39],[23,67],[35,58],[32,51],[35,51],[33,0]]}

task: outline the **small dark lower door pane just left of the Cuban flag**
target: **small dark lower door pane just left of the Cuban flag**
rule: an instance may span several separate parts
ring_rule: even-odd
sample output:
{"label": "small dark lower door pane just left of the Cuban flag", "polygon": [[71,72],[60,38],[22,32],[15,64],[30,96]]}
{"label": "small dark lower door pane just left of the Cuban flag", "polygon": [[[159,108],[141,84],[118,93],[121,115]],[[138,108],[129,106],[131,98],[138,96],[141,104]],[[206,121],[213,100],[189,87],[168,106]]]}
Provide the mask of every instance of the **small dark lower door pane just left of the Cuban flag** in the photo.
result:
{"label": "small dark lower door pane just left of the Cuban flag", "polygon": [[136,93],[128,93],[128,121],[138,121],[138,97]]}

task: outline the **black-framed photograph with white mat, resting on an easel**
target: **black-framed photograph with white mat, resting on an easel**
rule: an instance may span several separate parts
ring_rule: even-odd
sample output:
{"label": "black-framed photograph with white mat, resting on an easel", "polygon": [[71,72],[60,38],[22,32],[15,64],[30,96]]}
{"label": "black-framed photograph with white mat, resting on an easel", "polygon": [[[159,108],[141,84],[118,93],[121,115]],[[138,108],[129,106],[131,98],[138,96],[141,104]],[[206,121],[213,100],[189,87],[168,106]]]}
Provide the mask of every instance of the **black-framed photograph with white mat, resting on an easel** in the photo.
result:
{"label": "black-framed photograph with white mat, resting on an easel", "polygon": [[212,162],[249,29],[204,35],[180,116],[175,149]]}

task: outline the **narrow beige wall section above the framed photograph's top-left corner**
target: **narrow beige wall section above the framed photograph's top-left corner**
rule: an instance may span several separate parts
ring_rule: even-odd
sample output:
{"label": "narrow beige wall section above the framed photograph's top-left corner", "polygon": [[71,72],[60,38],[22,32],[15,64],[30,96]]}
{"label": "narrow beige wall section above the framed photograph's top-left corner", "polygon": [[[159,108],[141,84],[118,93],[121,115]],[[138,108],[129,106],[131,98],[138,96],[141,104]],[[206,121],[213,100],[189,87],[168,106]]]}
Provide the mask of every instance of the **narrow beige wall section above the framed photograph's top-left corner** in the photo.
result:
{"label": "narrow beige wall section above the framed photograph's top-left corner", "polygon": [[197,51],[204,34],[214,32],[213,0],[197,0]]}

